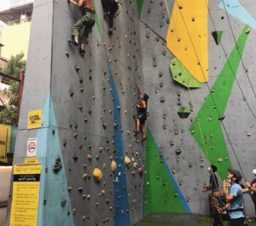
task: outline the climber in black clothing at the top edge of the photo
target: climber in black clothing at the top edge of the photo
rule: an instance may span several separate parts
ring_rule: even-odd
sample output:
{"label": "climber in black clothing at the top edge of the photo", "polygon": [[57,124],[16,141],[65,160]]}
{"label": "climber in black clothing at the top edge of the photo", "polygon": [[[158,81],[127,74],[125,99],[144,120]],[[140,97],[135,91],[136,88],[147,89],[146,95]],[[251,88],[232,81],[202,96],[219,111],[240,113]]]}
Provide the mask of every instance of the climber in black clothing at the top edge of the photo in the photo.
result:
{"label": "climber in black clothing at the top edge of the photo", "polygon": [[118,9],[118,0],[102,0],[103,17],[108,16],[108,34],[113,34],[114,16]]}

